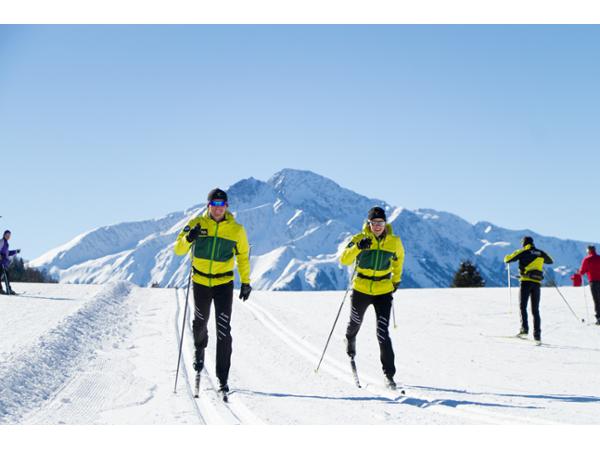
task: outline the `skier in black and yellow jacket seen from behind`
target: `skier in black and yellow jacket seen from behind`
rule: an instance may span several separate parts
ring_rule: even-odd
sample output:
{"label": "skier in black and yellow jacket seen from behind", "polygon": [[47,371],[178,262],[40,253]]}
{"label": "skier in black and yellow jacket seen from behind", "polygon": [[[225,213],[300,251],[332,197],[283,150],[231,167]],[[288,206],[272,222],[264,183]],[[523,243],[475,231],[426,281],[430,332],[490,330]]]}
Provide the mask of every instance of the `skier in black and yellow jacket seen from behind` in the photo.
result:
{"label": "skier in black and yellow jacket seen from behind", "polygon": [[518,336],[529,334],[527,321],[527,303],[531,296],[531,312],[533,314],[533,339],[538,343],[542,340],[542,321],[540,318],[541,284],[544,279],[544,264],[553,264],[552,258],[544,251],[536,248],[531,236],[525,236],[521,241],[522,248],[504,258],[505,263],[519,261],[521,281],[520,307],[521,330]]}

